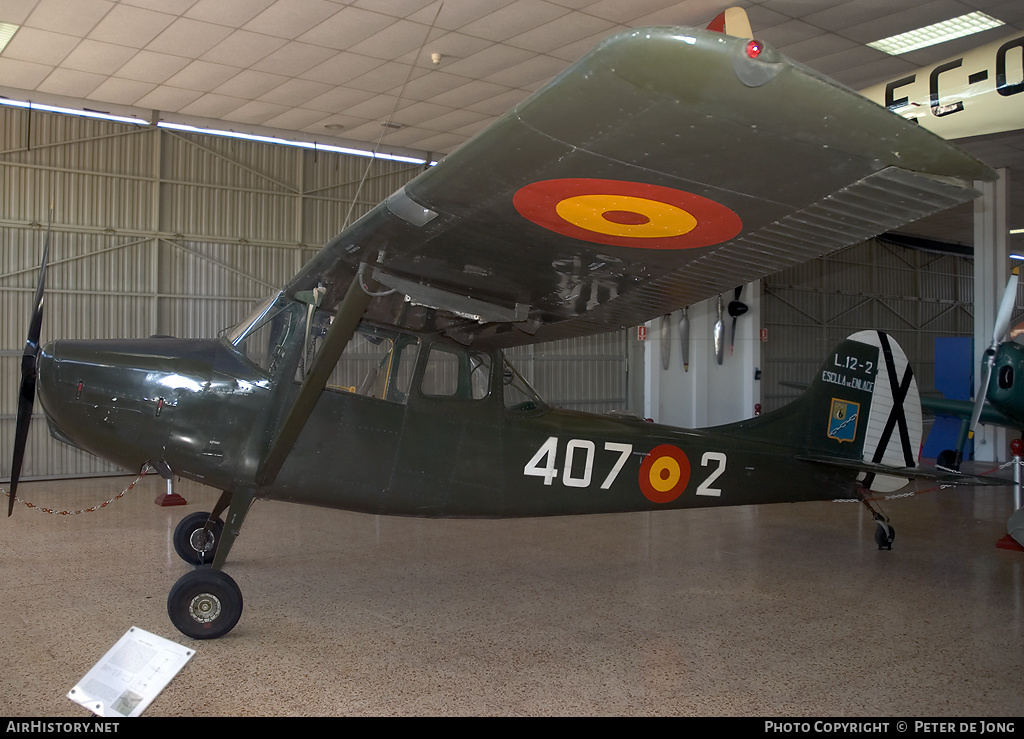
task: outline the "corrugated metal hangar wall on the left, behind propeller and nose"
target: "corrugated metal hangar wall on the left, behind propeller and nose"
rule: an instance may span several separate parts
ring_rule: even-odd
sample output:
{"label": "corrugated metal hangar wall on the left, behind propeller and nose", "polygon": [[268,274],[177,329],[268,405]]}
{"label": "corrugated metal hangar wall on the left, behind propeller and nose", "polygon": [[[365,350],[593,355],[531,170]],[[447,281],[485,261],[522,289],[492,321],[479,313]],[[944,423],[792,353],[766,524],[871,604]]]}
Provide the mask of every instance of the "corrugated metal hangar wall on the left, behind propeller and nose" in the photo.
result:
{"label": "corrugated metal hangar wall on the left, behind propeller and nose", "polygon": [[[0,108],[0,476],[54,204],[43,340],[212,337],[420,167]],[[354,205],[353,205],[354,204]],[[520,352],[556,404],[628,405],[626,333]],[[37,406],[38,410],[38,406]],[[113,471],[33,423],[23,475]]]}

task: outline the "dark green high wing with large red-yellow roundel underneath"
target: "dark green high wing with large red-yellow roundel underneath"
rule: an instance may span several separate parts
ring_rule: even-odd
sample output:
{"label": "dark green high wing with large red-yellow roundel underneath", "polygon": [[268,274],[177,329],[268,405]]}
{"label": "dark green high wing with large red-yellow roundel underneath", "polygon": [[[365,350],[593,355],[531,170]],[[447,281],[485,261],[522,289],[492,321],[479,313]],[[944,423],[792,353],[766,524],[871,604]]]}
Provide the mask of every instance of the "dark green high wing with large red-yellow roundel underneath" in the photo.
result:
{"label": "dark green high wing with large red-yellow roundel underneath", "polygon": [[994,178],[758,42],[631,31],[345,229],[286,292],[322,288],[330,309],[359,272],[379,296],[368,317],[480,346],[606,332]]}

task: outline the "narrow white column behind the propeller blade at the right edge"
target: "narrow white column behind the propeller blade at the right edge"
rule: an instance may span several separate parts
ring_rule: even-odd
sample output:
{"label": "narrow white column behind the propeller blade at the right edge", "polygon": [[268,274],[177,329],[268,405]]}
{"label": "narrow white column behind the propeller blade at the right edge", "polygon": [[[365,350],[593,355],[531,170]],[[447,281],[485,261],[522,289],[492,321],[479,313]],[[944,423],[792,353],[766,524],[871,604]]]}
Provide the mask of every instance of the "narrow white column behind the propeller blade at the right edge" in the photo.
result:
{"label": "narrow white column behind the propeller blade at the right edge", "polygon": [[[974,202],[974,383],[975,397],[981,388],[985,349],[992,342],[995,313],[1010,274],[1007,238],[1007,188],[1009,171],[998,170],[995,182],[976,182],[981,198]],[[974,437],[974,458],[980,462],[1009,459],[1007,429],[979,426]]]}

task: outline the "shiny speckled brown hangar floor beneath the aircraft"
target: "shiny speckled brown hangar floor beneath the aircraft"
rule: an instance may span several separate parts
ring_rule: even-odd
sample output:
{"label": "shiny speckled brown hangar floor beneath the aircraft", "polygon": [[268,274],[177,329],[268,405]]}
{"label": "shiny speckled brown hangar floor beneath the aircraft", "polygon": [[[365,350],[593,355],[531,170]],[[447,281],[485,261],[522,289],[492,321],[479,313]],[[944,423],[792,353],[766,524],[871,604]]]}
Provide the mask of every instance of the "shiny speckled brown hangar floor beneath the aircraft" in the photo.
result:
{"label": "shiny speckled brown hangar floor beneath the aircraft", "polygon": [[[91,507],[130,478],[25,483]],[[215,491],[156,475],[95,513],[0,524],[0,714],[66,694],[131,626],[197,650],[145,715],[1024,714],[1010,488],[856,504],[425,521],[258,502],[216,641],[180,635],[171,532]]]}

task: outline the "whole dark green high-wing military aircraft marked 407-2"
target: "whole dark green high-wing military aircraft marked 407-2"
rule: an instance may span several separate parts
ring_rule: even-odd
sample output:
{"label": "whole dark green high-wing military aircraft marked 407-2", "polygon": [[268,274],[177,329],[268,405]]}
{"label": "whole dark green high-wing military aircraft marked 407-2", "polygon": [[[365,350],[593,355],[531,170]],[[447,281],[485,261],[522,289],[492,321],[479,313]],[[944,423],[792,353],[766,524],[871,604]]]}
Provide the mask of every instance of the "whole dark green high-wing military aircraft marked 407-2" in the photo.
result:
{"label": "whole dark green high-wing military aircraft marked 407-2", "polygon": [[929,474],[913,375],[885,335],[843,342],[790,405],[703,431],[551,408],[503,350],[637,325],[966,202],[994,176],[756,40],[630,31],[218,338],[40,347],[44,248],[18,433],[38,385],[56,438],[222,491],[174,534],[195,569],[168,614],[197,639],[241,616],[223,567],[259,498],[422,517],[870,508],[867,491]]}

